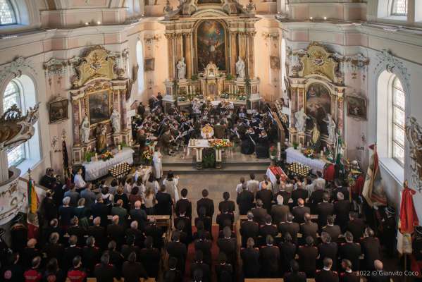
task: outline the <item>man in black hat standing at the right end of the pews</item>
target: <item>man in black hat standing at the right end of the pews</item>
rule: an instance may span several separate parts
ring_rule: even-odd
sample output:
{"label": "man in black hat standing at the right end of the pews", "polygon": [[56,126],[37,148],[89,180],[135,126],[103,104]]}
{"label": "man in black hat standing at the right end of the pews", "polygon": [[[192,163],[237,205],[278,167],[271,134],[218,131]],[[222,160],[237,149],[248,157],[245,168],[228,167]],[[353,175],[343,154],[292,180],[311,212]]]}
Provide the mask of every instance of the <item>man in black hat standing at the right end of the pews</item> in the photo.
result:
{"label": "man in black hat standing at the right end of the pews", "polygon": [[396,238],[396,219],[394,207],[385,208],[385,217],[380,224],[380,241],[387,255],[393,256]]}

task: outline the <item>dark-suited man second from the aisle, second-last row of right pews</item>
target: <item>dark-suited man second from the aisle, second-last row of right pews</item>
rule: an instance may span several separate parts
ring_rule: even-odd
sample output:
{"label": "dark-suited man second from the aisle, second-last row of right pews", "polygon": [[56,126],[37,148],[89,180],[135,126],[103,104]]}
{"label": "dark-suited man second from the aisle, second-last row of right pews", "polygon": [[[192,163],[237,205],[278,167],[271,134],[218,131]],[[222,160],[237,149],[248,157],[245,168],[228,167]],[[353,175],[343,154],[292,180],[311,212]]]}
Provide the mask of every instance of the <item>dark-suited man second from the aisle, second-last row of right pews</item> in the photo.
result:
{"label": "dark-suited man second from the aisle, second-last row of right pews", "polygon": [[280,265],[280,250],[273,245],[274,239],[271,235],[266,237],[266,246],[261,247],[261,276],[277,277]]}

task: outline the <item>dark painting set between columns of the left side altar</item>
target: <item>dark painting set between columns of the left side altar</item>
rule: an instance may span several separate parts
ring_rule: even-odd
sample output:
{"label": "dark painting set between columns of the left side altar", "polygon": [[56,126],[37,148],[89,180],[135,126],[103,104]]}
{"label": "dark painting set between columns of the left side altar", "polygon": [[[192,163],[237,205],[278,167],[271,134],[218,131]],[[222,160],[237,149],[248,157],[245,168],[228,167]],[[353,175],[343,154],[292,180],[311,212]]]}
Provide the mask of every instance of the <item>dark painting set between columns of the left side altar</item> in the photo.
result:
{"label": "dark painting set between columns of the left side altar", "polygon": [[110,96],[111,95],[109,90],[103,90],[89,94],[88,116],[89,123],[91,123],[91,125],[109,120],[111,115]]}

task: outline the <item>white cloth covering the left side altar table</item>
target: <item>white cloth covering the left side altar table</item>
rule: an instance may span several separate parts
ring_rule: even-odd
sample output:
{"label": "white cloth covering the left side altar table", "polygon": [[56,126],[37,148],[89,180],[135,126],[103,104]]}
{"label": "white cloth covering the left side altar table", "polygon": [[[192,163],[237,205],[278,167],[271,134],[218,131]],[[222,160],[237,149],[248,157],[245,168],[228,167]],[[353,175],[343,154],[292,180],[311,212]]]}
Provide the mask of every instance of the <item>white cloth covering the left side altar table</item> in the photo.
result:
{"label": "white cloth covering the left side altar table", "polygon": [[91,161],[89,163],[85,162],[82,165],[85,166],[85,180],[91,181],[100,178],[101,176],[106,176],[108,169],[116,164],[122,162],[127,162],[128,164],[133,164],[133,151],[132,148],[123,148],[120,153],[114,154],[114,157],[103,161],[99,159],[98,161]]}

